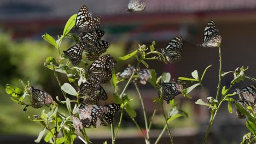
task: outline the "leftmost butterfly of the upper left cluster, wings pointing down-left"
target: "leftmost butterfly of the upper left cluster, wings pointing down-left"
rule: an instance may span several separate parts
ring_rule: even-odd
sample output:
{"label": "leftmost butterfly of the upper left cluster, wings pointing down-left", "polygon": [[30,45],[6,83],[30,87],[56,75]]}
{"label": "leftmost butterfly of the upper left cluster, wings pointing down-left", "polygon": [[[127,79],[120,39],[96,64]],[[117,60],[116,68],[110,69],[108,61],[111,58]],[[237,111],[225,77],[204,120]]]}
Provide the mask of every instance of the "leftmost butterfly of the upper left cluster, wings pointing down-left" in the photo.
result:
{"label": "leftmost butterfly of the upper left cluster, wings pointing down-left", "polygon": [[71,46],[67,51],[63,51],[63,52],[73,65],[78,65],[82,61],[83,51],[84,51],[84,46],[82,44],[75,44]]}

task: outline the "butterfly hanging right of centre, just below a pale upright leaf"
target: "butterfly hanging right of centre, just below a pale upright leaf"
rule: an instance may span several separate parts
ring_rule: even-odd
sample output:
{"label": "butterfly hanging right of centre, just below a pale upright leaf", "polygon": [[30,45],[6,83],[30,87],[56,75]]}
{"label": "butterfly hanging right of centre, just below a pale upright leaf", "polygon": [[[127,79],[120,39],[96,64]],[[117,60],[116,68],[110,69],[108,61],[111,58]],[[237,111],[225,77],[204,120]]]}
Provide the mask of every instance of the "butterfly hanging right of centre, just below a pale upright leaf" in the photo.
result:
{"label": "butterfly hanging right of centre, just below a pale upright leaf", "polygon": [[162,99],[170,101],[183,91],[183,86],[178,83],[162,82],[161,83]]}

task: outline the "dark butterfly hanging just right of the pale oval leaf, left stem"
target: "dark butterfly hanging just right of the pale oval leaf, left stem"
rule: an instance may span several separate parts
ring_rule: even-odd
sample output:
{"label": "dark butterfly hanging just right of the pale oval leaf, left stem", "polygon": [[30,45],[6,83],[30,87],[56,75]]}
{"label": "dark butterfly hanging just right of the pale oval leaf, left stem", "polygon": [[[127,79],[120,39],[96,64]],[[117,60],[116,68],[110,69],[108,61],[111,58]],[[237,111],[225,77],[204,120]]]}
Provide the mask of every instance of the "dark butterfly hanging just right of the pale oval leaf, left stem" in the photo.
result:
{"label": "dark butterfly hanging just right of the pale oval leaf, left stem", "polygon": [[99,99],[97,98],[98,89],[100,88],[100,80],[98,77],[90,77],[80,87],[79,92],[82,97],[85,97],[85,101],[88,104],[97,104]]}

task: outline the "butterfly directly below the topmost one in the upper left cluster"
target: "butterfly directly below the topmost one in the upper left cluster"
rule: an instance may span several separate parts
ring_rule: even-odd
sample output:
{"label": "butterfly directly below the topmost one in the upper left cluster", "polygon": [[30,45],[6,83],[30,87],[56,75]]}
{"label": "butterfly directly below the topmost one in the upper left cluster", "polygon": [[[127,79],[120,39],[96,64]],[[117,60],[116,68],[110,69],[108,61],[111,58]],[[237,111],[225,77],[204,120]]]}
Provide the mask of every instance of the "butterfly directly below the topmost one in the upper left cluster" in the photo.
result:
{"label": "butterfly directly below the topmost one in the upper left cluster", "polygon": [[79,39],[85,47],[84,50],[86,52],[95,52],[97,43],[101,40],[104,33],[103,30],[96,30],[86,34],[79,34]]}

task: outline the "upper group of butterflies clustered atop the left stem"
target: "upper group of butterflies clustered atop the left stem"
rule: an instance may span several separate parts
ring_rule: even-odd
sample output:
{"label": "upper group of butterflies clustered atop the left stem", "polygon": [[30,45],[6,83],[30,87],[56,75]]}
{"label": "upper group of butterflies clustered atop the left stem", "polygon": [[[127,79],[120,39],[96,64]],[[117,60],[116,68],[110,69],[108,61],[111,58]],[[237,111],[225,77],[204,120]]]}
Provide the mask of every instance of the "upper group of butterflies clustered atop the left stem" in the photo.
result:
{"label": "upper group of butterflies clustered atop the left stem", "polygon": [[73,65],[82,61],[84,51],[89,61],[95,61],[110,46],[108,41],[101,40],[105,32],[100,29],[100,22],[100,16],[92,17],[86,5],[78,11],[74,29],[79,32],[79,43],[63,51]]}

